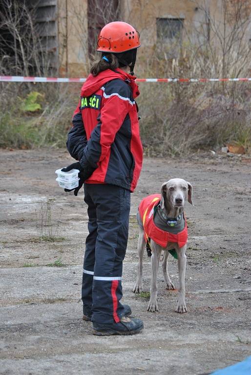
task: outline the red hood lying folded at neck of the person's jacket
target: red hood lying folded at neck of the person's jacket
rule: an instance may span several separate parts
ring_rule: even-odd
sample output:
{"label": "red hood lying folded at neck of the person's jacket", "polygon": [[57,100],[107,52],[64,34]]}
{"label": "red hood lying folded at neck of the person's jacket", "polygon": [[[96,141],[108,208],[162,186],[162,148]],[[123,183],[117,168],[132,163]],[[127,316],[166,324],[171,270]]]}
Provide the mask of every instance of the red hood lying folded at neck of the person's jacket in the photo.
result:
{"label": "red hood lying folded at neck of the person's jacket", "polygon": [[127,74],[124,70],[117,68],[116,71],[111,69],[106,69],[103,72],[99,73],[96,77],[92,74],[89,74],[85,83],[81,89],[81,96],[88,97],[97,92],[105,83],[120,79],[128,82],[132,89],[132,96],[135,99],[139,94],[139,87],[135,83],[136,77]]}

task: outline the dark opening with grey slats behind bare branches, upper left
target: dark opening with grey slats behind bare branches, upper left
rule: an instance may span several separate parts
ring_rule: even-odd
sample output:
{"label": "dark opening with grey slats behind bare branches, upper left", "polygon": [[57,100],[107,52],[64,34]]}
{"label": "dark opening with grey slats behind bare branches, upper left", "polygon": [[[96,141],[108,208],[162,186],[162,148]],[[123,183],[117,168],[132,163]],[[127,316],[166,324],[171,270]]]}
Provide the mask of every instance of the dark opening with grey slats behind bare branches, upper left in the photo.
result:
{"label": "dark opening with grey slats behind bare branches, upper left", "polygon": [[57,71],[57,0],[0,1],[0,73]]}

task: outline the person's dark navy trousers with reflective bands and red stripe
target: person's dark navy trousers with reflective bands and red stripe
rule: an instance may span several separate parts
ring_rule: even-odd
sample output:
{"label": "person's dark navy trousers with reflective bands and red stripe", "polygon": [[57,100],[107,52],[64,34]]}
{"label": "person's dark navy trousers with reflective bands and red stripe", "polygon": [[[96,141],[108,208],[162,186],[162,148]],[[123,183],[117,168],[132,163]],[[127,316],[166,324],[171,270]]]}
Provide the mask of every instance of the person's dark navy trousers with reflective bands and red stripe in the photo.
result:
{"label": "person's dark navy trousers with reflective bands and red stripe", "polygon": [[130,191],[108,184],[84,184],[88,205],[82,301],[84,314],[97,323],[119,322],[124,315],[122,268],[128,239]]}

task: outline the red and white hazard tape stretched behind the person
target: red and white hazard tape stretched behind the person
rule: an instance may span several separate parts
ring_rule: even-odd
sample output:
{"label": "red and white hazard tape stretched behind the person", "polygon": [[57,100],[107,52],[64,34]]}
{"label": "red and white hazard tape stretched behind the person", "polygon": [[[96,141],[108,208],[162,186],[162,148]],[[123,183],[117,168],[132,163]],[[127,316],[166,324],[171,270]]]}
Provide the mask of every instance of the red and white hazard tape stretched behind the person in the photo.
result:
{"label": "red and white hazard tape stretched behind the person", "polygon": [[[0,76],[0,82],[85,82],[86,78]],[[232,82],[251,78],[137,78],[137,82]]]}

